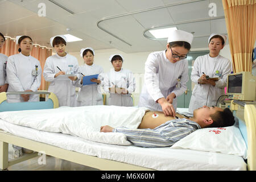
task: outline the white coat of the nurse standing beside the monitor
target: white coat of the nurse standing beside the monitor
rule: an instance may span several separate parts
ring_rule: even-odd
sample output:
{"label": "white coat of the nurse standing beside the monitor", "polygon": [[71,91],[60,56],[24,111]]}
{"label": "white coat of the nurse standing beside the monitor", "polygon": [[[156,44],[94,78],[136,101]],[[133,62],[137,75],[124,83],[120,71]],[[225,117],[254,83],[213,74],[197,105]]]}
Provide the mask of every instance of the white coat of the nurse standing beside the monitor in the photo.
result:
{"label": "white coat of the nurse standing beside the monitor", "polygon": [[[216,71],[218,71],[221,76],[219,78],[220,80],[215,82],[215,86],[198,84],[197,80],[203,75],[203,72],[209,77],[218,77],[215,75]],[[231,71],[231,62],[221,55],[210,57],[209,54],[207,54],[197,57],[191,72],[191,80],[195,82],[195,88],[193,89],[189,103],[189,112],[193,113],[193,110],[204,105],[215,106],[218,98],[225,94],[224,88],[228,74],[230,74]]]}

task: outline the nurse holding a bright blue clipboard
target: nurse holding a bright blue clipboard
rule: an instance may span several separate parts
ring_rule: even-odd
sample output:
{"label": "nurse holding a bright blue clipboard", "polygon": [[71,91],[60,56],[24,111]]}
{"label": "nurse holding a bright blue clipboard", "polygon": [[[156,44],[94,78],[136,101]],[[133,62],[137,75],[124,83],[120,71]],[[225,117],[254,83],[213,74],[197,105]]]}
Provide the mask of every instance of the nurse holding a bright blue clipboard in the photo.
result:
{"label": "nurse holding a bright blue clipboard", "polygon": [[103,99],[101,94],[101,83],[103,81],[104,73],[103,68],[100,65],[93,63],[95,52],[93,48],[86,47],[82,48],[80,51],[80,56],[84,59],[84,65],[80,66],[81,75],[98,75],[98,79],[92,78],[91,81],[95,84],[91,85],[82,85],[81,81],[78,82],[78,87],[80,91],[77,95],[77,106],[92,106],[92,105],[103,105]]}

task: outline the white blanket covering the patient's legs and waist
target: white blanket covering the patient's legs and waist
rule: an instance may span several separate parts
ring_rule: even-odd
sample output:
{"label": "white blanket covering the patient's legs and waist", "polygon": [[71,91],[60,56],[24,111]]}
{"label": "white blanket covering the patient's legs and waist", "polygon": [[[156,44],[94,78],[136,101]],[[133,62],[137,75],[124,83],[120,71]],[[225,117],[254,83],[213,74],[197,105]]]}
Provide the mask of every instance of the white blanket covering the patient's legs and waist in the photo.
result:
{"label": "white blanket covering the patient's legs and waist", "polygon": [[15,125],[54,133],[69,134],[93,142],[130,145],[122,133],[101,133],[104,125],[137,129],[146,107],[83,106],[57,109],[0,112],[0,119]]}

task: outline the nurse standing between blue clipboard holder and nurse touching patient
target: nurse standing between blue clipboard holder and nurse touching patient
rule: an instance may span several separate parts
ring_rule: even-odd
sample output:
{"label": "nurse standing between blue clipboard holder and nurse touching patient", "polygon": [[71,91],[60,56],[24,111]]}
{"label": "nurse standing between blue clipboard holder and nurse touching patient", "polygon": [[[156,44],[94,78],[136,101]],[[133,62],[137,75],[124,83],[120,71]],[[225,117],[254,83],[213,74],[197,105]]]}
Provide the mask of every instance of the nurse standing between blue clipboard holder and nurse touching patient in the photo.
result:
{"label": "nurse standing between blue clipboard holder and nurse touching patient", "polygon": [[108,105],[133,106],[131,93],[136,89],[133,73],[122,68],[122,55],[111,55],[109,61],[113,68],[104,77],[104,90],[110,93]]}

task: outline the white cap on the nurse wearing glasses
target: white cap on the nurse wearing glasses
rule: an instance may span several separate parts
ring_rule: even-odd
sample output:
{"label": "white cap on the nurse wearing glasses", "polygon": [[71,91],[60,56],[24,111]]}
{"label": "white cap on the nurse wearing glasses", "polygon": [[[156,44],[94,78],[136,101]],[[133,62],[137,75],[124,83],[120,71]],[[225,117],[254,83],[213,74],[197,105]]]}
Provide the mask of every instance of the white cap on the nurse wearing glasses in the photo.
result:
{"label": "white cap on the nurse wearing glasses", "polygon": [[183,30],[172,30],[170,31],[170,35],[168,36],[167,43],[184,41],[191,45],[192,40],[193,40],[193,34],[189,32],[185,32]]}

